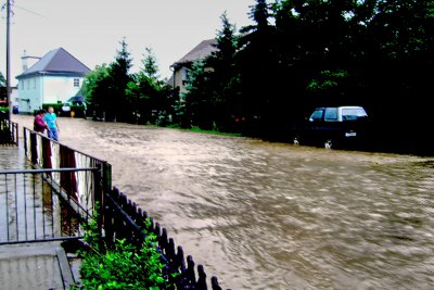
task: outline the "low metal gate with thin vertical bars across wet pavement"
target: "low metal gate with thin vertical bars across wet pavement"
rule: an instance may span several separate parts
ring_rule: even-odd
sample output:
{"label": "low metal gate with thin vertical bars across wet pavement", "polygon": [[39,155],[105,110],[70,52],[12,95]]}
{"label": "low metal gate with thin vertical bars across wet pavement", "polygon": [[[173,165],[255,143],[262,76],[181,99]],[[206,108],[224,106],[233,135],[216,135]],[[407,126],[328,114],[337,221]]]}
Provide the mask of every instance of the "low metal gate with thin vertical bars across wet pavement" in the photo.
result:
{"label": "low metal gate with thin vertical bars across wet pavement", "polygon": [[[77,174],[92,182],[99,178],[98,168],[0,171],[0,244],[82,237],[80,223],[92,209],[64,182]],[[90,193],[86,200],[93,199]]]}

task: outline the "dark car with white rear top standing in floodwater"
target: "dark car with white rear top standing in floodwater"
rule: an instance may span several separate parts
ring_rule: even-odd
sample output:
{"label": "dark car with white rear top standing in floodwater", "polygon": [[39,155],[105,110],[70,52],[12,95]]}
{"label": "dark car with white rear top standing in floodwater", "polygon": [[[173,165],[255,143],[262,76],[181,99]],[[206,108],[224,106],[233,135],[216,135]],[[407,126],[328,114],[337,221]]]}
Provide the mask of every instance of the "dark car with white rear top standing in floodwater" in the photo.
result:
{"label": "dark car with white rear top standing in floodwater", "polygon": [[331,149],[363,141],[368,114],[362,106],[316,108],[308,118],[293,124],[294,144],[315,144]]}

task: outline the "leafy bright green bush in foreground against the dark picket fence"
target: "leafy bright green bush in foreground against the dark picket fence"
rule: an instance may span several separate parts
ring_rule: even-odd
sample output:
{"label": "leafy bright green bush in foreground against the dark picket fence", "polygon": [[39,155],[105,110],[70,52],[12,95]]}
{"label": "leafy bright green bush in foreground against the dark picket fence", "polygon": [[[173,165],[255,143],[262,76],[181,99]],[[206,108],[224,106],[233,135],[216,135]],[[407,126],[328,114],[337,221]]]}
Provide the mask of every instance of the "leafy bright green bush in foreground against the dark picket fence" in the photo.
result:
{"label": "leafy bright green bush in foreground against the dark picket fence", "polygon": [[[156,250],[156,237],[148,232],[142,247],[138,249],[126,240],[117,239],[107,247],[97,229],[94,219],[86,228],[87,251],[80,251],[81,286],[75,289],[168,289],[169,282],[163,275],[165,264]],[[175,289],[175,288],[171,288]]]}

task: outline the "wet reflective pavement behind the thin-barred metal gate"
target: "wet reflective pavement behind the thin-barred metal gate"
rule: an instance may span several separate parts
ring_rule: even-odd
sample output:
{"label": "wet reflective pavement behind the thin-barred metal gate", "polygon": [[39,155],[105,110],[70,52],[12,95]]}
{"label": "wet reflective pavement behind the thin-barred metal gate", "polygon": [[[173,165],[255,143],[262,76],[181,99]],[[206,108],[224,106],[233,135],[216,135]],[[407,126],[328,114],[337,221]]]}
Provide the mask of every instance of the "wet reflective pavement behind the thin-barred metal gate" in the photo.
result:
{"label": "wet reflective pavement behind the thin-barred metal gate", "polygon": [[[31,169],[24,148],[0,147],[0,171]],[[42,174],[0,175],[0,243],[79,235],[78,220]]]}

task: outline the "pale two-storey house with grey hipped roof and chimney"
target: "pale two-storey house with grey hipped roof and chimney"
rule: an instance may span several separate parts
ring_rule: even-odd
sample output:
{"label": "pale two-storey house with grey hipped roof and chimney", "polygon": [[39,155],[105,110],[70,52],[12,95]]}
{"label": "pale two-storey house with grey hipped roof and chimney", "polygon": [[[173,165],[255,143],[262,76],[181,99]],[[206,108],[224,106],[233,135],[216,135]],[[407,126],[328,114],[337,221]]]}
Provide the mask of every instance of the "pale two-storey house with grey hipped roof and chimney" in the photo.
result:
{"label": "pale two-storey house with grey hipped roof and chimney", "polygon": [[[26,65],[23,68],[26,70]],[[20,112],[33,113],[44,103],[66,102],[80,91],[89,72],[89,67],[63,48],[51,50],[16,76]]]}

